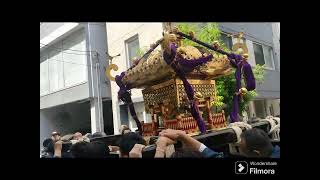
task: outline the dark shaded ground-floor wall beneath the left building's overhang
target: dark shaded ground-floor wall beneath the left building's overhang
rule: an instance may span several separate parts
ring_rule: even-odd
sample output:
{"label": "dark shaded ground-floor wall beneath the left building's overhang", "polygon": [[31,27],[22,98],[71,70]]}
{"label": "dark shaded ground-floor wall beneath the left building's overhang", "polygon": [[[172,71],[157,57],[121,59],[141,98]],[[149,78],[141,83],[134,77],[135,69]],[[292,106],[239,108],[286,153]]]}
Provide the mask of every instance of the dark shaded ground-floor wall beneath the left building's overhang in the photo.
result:
{"label": "dark shaded ground-floor wall beneath the left building's overhang", "polygon": [[43,140],[49,138],[53,131],[58,131],[61,135],[77,131],[90,132],[89,102],[40,110],[40,148]]}

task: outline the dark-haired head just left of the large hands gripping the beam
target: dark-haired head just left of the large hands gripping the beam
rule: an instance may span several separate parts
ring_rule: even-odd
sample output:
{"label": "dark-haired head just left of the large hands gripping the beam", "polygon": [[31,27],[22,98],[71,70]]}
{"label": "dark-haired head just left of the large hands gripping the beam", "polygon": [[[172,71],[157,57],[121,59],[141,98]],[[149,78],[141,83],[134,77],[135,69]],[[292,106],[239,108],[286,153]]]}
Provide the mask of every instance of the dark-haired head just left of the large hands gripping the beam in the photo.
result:
{"label": "dark-haired head just left of the large hands gripping the beam", "polygon": [[123,134],[119,142],[121,157],[128,157],[135,144],[146,145],[146,141],[142,136],[134,132]]}

